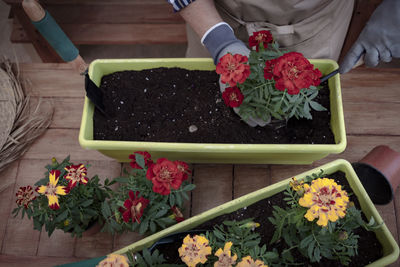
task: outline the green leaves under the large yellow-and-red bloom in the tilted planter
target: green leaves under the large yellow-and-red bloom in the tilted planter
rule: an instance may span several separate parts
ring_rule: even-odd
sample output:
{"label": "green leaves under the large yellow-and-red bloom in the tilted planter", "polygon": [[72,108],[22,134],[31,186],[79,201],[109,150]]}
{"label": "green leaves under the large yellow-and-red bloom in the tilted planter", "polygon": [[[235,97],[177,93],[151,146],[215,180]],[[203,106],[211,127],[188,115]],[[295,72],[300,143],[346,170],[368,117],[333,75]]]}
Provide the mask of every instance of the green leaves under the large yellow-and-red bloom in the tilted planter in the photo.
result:
{"label": "green leaves under the large yellow-and-red bloom in the tilted planter", "polygon": [[[305,182],[322,177],[322,174],[321,170],[319,174],[308,176]],[[354,230],[359,227],[373,230],[380,225],[377,225],[372,217],[369,222],[365,222],[361,211],[354,205],[349,205],[344,218],[335,222],[329,221],[327,227],[318,226],[315,221],[310,222],[304,217],[307,208],[298,204],[302,193],[299,194],[288,187],[284,192],[284,200],[288,207],[273,207],[273,216],[268,218],[275,226],[270,243],[285,242],[288,249],[281,252],[281,257],[286,263],[294,263],[291,250],[297,249],[311,262],[320,262],[322,258],[327,258],[348,265],[351,257],[357,254],[359,236],[354,234]]]}

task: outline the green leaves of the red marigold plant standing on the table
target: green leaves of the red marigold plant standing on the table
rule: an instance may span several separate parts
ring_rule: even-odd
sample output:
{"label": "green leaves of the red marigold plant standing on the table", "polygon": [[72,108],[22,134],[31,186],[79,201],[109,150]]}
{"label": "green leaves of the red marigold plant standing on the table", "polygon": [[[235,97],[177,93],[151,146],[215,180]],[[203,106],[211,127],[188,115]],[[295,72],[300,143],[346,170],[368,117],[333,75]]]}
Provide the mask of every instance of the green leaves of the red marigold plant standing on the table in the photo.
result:
{"label": "green leaves of the red marigold plant standing on the table", "polygon": [[[105,219],[104,230],[111,233],[121,233],[125,231],[135,231],[139,234],[155,233],[165,229],[177,221],[172,211],[172,207],[177,207],[180,211],[184,208],[184,200],[189,199],[189,193],[195,188],[188,180],[183,181],[178,190],[171,189],[169,195],[161,195],[153,191],[152,181],[146,178],[147,167],[143,156],[136,155],[136,162],[143,169],[133,169],[131,172],[124,170],[124,176],[113,179],[119,183],[119,188],[112,192],[112,197],[103,203],[102,214]],[[149,200],[148,206],[144,209],[137,221],[125,222],[122,219],[125,210],[124,202],[129,199],[129,191],[139,192],[139,197]]]}

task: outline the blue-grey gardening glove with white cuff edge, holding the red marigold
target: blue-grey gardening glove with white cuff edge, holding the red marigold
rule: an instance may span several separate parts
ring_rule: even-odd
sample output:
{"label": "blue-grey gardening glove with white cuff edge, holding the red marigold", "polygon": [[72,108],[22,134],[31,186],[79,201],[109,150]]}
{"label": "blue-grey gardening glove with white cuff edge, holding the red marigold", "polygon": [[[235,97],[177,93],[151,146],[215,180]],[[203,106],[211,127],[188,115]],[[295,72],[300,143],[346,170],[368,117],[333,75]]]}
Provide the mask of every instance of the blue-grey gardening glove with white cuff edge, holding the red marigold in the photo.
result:
{"label": "blue-grey gardening glove with white cuff edge, holding the red marigold", "polygon": [[[220,22],[212,26],[201,38],[201,43],[208,49],[214,59],[214,64],[217,65],[219,59],[227,53],[241,54],[249,57],[250,50],[246,45],[236,38],[232,28],[225,22]],[[228,87],[227,84],[221,83],[219,79],[219,87],[221,93]],[[239,108],[233,108],[236,114],[239,114]],[[265,126],[268,122],[261,119],[250,117],[245,122],[251,127]]]}

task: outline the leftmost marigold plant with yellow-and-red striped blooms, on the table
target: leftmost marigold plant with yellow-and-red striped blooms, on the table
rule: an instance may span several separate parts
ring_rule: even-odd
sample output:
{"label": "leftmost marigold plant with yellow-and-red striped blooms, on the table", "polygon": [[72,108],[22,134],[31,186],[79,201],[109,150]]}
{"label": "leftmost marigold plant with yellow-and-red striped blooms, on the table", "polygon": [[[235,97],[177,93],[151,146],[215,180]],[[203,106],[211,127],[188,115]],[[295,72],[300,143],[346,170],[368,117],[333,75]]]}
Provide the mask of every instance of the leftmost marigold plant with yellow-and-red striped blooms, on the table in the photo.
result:
{"label": "leftmost marigold plant with yellow-and-red striped blooms, on the table", "polygon": [[71,163],[69,156],[62,162],[53,158],[35,189],[30,185],[18,189],[14,216],[21,213],[23,218],[26,214],[33,220],[34,229],[41,231],[44,225],[49,236],[60,229],[81,237],[89,228],[101,225],[101,205],[111,189],[108,180],[103,185],[97,175],[89,178],[88,167]]}

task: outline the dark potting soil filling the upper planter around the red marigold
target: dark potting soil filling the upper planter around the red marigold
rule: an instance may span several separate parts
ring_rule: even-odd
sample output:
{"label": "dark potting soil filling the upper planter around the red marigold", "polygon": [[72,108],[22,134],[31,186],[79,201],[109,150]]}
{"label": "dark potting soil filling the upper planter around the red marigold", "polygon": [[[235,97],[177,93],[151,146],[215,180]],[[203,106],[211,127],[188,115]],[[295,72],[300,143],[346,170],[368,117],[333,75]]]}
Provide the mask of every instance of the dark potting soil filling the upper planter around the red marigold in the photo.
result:
{"label": "dark potting soil filling the upper planter around the red marigold", "polygon": [[[94,113],[94,139],[235,144],[334,144],[327,84],[316,99],[328,111],[312,120],[250,127],[225,105],[215,71],[156,68],[102,78],[104,117]],[[189,130],[190,129],[190,130]],[[197,129],[193,131],[193,129]]]}

